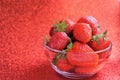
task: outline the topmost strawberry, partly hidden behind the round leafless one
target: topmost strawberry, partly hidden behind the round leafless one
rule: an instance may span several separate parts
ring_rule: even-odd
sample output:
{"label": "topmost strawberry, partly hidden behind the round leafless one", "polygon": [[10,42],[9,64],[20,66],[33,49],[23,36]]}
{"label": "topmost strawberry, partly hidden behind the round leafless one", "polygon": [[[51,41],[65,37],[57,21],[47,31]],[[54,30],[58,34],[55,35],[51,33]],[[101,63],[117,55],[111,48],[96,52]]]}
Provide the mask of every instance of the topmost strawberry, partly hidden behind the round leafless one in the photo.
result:
{"label": "topmost strawberry, partly hidden behind the round leafless one", "polygon": [[88,23],[92,28],[93,35],[96,35],[99,31],[100,25],[98,24],[98,21],[93,16],[81,17],[78,23]]}

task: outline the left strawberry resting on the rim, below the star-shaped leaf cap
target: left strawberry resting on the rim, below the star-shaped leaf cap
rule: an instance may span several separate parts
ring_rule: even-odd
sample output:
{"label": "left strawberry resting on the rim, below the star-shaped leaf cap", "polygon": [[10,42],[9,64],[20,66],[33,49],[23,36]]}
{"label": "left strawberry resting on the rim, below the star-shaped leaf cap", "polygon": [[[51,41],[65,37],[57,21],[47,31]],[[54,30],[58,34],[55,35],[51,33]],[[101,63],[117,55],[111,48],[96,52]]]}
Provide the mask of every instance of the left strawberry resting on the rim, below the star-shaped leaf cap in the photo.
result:
{"label": "left strawberry resting on the rim, below the star-shaped leaf cap", "polygon": [[53,49],[62,50],[68,43],[69,37],[67,34],[65,32],[57,32],[51,37],[47,45]]}

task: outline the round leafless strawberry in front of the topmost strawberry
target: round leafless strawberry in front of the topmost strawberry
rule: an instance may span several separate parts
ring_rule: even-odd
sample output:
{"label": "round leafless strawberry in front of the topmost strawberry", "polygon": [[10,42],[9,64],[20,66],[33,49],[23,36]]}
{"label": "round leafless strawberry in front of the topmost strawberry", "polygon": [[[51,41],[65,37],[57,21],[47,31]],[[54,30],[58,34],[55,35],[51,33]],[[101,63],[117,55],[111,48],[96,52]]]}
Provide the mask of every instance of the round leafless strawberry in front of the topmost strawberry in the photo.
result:
{"label": "round leafless strawberry in front of the topmost strawberry", "polygon": [[73,36],[80,42],[87,43],[92,38],[92,30],[89,24],[78,23],[73,29]]}

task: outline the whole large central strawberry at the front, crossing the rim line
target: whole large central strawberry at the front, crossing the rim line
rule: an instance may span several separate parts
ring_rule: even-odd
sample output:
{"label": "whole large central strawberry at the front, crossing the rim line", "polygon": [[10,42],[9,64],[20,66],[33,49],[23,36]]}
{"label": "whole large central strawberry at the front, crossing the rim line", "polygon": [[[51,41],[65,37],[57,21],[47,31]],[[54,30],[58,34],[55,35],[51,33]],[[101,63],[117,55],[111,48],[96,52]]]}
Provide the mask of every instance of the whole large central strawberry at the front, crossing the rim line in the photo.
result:
{"label": "whole large central strawberry at the front, crossing the rim line", "polygon": [[98,54],[84,43],[75,42],[71,50],[67,53],[70,64],[75,66],[96,66],[98,64]]}

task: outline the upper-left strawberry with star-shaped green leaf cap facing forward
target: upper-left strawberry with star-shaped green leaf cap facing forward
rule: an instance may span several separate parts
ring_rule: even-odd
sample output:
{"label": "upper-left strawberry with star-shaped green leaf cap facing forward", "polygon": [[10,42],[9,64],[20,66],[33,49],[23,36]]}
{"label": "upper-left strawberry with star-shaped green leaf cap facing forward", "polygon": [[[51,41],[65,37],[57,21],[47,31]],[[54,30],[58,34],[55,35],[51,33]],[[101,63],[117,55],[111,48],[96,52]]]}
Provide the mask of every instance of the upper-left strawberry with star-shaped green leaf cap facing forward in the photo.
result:
{"label": "upper-left strawberry with star-shaped green leaf cap facing forward", "polygon": [[74,22],[70,19],[64,19],[60,22],[56,21],[56,24],[53,24],[53,27],[50,29],[50,36],[54,35],[56,32],[66,32],[67,34],[71,34],[74,28]]}

